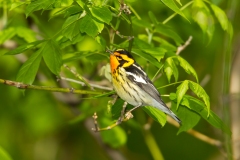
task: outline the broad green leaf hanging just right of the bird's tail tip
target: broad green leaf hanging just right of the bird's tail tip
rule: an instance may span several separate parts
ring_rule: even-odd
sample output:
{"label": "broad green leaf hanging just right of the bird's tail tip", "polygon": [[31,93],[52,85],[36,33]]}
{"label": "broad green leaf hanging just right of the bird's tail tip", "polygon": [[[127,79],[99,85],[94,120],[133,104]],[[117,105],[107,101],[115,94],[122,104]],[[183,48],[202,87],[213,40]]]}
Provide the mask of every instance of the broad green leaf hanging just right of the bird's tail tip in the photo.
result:
{"label": "broad green leaf hanging just right of the bird's tail tip", "polygon": [[177,116],[181,119],[182,123],[180,125],[180,128],[178,130],[178,133],[188,131],[189,129],[192,129],[200,120],[199,114],[197,114],[195,111],[181,105],[177,109],[177,104],[172,101],[171,110],[176,111],[177,110]]}

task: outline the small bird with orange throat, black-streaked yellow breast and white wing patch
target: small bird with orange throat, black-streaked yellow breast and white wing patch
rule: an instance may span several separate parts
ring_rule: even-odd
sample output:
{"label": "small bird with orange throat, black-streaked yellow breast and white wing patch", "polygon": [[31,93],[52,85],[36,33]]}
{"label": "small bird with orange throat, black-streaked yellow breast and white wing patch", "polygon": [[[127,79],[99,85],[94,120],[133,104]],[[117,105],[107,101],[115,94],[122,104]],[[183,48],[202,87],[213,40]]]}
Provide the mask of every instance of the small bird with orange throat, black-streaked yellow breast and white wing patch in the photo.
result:
{"label": "small bird with orange throat, black-streaked yellow breast and white wing patch", "polygon": [[181,120],[163,102],[153,82],[127,50],[117,49],[110,53],[110,68],[117,95],[134,106],[130,112],[141,106],[152,106],[181,124]]}

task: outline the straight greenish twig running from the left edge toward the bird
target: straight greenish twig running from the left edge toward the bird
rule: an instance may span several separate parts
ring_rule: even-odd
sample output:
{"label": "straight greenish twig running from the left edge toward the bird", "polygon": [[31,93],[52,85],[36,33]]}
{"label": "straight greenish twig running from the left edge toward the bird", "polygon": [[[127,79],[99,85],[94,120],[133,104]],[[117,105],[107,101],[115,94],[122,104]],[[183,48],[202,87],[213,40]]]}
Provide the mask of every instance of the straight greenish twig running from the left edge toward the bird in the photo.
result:
{"label": "straight greenish twig running from the left edge toward the bird", "polygon": [[13,86],[18,89],[34,89],[34,90],[44,90],[44,91],[51,91],[51,92],[64,92],[64,93],[74,93],[74,94],[102,94],[103,93],[103,92],[97,92],[97,91],[79,90],[74,88],[36,86],[36,85],[29,85],[21,82],[16,82],[16,81],[4,80],[4,79],[0,79],[0,83]]}

